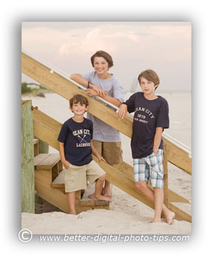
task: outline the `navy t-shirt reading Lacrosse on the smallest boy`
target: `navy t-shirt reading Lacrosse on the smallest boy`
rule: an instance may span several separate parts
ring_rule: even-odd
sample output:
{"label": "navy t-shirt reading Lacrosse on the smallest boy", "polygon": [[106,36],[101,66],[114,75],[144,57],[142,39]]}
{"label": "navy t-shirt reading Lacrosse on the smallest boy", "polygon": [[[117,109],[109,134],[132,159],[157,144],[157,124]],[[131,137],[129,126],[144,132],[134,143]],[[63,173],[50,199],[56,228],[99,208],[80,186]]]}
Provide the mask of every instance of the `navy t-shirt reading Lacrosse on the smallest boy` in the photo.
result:
{"label": "navy t-shirt reading Lacrosse on the smallest boy", "polygon": [[64,155],[70,164],[82,166],[92,161],[93,124],[87,118],[82,123],[68,119],[61,127],[58,141],[64,143]]}

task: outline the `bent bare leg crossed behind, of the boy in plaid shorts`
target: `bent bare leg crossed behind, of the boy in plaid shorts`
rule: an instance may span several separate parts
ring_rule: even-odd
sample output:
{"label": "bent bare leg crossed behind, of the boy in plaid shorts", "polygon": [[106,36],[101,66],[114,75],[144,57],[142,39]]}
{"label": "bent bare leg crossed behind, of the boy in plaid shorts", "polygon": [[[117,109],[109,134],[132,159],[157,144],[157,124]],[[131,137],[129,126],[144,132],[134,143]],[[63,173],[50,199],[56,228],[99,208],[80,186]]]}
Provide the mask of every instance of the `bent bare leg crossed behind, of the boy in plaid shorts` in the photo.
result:
{"label": "bent bare leg crossed behind, of the boy in plaid shorts", "polygon": [[[149,201],[152,201],[153,203],[155,203],[154,192],[152,191],[152,189],[149,188],[146,181],[135,182],[135,186],[141,193],[143,193],[143,195],[146,196],[146,198],[149,199]],[[166,223],[171,225],[172,220],[175,218],[175,212],[169,211],[169,209],[166,208],[164,204],[162,206],[162,212],[166,218]]]}

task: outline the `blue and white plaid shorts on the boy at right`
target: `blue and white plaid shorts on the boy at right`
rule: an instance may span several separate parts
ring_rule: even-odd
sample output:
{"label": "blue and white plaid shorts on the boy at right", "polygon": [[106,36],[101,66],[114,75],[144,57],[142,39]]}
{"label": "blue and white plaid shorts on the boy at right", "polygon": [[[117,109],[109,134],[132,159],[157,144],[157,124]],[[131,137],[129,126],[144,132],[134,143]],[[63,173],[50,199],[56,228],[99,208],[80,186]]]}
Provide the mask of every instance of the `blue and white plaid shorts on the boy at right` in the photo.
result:
{"label": "blue and white plaid shorts on the boy at right", "polygon": [[153,152],[146,158],[133,159],[135,182],[146,181],[152,187],[163,189],[163,150],[158,149],[157,154]]}

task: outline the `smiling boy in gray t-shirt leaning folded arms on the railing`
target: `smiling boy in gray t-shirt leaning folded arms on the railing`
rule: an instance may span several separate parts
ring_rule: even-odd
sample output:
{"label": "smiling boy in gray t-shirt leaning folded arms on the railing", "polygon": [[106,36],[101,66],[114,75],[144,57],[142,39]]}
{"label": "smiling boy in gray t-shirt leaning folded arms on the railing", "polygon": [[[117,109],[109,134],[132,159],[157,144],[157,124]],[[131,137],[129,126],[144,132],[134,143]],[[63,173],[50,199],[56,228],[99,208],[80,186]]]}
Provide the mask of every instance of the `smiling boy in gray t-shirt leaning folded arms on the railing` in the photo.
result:
{"label": "smiling boy in gray t-shirt leaning folded arms on the railing", "polygon": [[[91,63],[95,71],[72,74],[70,78],[87,87],[89,96],[99,96],[119,107],[124,102],[124,88],[115,75],[108,73],[109,68],[113,66],[112,57],[109,53],[100,50],[92,55]],[[107,164],[121,164],[123,159],[120,132],[89,113],[87,118],[93,123],[92,143],[99,154],[104,157]],[[108,181],[105,181],[103,195],[112,198]],[[92,197],[93,194],[89,195],[89,198]]]}

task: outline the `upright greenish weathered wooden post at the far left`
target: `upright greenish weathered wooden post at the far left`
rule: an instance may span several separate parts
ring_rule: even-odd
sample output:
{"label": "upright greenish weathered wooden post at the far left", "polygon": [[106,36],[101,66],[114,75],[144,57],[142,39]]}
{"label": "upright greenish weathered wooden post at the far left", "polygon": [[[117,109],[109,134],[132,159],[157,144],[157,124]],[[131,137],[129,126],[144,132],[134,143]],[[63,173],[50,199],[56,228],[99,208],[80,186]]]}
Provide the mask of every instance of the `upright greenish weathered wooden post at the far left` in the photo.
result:
{"label": "upright greenish weathered wooden post at the far left", "polygon": [[35,213],[32,101],[21,101],[21,212]]}

